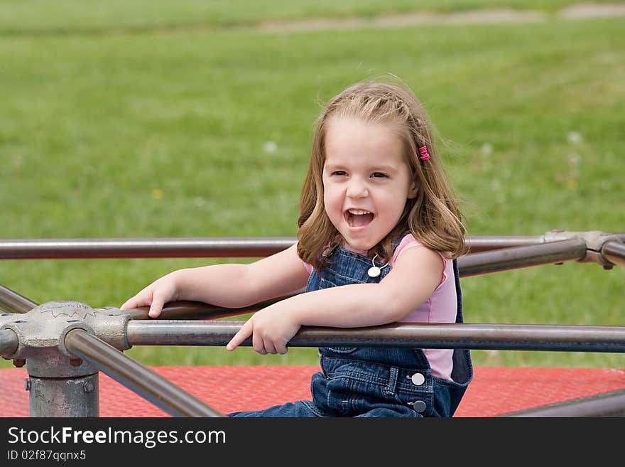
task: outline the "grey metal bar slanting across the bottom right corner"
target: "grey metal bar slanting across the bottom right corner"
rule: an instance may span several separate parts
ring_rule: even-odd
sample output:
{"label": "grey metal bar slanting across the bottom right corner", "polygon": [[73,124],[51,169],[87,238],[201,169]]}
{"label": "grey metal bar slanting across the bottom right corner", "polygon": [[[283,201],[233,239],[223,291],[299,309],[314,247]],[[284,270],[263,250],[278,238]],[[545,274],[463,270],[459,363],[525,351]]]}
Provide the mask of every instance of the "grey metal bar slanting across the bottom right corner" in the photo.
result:
{"label": "grey metal bar slanting across the bottom right corner", "polygon": [[589,397],[509,412],[497,417],[623,417],[625,390],[603,392]]}

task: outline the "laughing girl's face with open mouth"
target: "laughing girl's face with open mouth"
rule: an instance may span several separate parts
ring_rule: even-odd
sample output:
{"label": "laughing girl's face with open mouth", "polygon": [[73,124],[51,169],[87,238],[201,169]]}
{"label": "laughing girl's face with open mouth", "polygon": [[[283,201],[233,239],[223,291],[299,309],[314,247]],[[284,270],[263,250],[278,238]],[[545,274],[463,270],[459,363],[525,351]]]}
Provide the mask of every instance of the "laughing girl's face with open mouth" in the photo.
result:
{"label": "laughing girl's face with open mouth", "polygon": [[352,118],[327,122],[322,180],[325,212],[352,249],[377,245],[417,194],[398,134]]}

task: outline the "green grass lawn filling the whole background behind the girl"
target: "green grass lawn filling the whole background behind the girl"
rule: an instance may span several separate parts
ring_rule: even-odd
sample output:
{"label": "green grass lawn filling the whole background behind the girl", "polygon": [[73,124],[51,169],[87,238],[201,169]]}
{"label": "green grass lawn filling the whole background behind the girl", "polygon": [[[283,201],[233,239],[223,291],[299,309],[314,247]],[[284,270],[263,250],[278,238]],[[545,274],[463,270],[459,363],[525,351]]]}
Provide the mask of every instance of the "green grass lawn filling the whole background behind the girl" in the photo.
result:
{"label": "green grass lawn filling the whole background behind the girl", "polygon": [[[0,235],[294,236],[321,104],[384,75],[428,109],[468,235],[624,232],[625,18],[556,14],[577,3],[425,1],[423,11],[550,16],[286,33],[254,25],[414,2],[1,0]],[[0,284],[38,303],[119,306],[166,272],[218,261],[3,260]],[[621,326],[624,284],[622,268],[580,263],[468,277],[465,320]],[[126,353],[146,365],[317,363],[312,348]],[[476,365],[625,367],[611,353],[473,355]]]}

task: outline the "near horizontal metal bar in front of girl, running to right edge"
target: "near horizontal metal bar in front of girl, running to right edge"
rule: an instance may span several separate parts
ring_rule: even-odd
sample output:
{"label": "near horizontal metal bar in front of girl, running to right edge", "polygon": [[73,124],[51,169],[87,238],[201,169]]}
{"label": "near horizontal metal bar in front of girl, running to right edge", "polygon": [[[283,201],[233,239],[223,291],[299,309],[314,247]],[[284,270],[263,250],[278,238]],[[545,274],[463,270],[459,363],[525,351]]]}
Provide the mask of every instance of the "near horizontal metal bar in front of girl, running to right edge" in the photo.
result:
{"label": "near horizontal metal bar in front of girl, running to right edge", "polygon": [[[130,345],[226,345],[244,321],[129,321]],[[251,338],[241,345],[251,346]],[[290,347],[396,346],[625,353],[623,326],[391,323],[365,328],[302,326]]]}

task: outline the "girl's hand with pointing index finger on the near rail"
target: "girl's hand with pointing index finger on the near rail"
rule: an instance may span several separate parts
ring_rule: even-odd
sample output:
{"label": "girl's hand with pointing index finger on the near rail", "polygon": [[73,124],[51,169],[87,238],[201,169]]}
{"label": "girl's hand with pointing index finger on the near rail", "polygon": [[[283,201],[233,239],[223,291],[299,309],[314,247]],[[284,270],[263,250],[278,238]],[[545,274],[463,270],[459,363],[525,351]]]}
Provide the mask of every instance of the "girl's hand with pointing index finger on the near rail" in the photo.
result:
{"label": "girl's hand with pointing index finger on the near rail", "polygon": [[300,328],[293,316],[288,312],[273,308],[264,308],[256,311],[254,316],[241,326],[241,329],[234,335],[226,345],[227,350],[234,350],[241,342],[252,336],[254,350],[265,355],[285,354],[288,352],[287,343]]}

